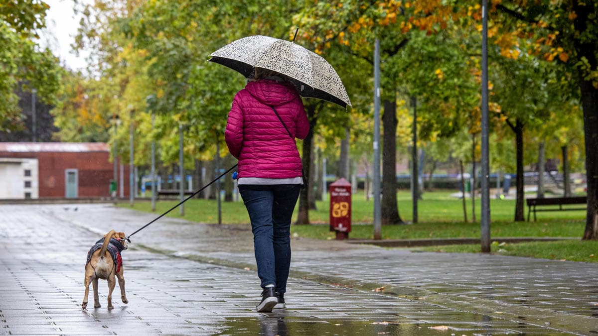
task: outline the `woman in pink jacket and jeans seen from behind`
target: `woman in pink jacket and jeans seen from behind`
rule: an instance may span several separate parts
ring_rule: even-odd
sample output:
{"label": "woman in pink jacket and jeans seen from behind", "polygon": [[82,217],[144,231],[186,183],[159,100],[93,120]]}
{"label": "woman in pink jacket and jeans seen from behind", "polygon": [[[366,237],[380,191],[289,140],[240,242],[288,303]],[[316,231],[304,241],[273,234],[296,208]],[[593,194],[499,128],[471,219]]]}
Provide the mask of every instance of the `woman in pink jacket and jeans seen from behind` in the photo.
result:
{"label": "woman in pink jacket and jeans seen from behind", "polygon": [[263,288],[258,312],[285,307],[291,216],[303,185],[295,138],[307,136],[309,121],[299,93],[285,78],[255,68],[254,78],[234,96],[224,133],[239,160],[239,193],[254,233]]}

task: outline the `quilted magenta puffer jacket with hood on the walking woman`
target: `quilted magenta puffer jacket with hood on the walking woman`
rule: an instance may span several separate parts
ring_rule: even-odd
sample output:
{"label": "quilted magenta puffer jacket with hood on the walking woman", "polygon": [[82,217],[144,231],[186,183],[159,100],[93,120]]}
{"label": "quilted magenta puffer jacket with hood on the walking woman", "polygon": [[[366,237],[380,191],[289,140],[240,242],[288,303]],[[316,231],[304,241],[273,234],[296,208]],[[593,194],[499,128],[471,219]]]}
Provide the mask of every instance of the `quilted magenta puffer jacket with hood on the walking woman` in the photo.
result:
{"label": "quilted magenta puffer jacket with hood on the walking woman", "polygon": [[297,90],[274,80],[259,80],[249,82],[234,96],[224,138],[228,150],[239,159],[239,178],[281,179],[301,176],[294,138],[305,139],[308,132],[309,121]]}

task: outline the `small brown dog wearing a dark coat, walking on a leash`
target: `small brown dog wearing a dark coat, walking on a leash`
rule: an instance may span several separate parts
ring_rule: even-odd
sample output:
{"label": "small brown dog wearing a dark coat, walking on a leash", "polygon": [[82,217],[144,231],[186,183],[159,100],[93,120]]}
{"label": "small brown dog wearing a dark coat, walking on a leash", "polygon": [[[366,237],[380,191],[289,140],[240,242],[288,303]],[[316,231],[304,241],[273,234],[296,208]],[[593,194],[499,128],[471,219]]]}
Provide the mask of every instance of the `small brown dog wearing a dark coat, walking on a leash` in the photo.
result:
{"label": "small brown dog wearing a dark coat, walking on a leash", "polygon": [[[93,307],[101,307],[97,295],[97,279],[108,280],[108,309],[114,308],[112,307],[112,291],[116,285],[114,276],[118,277],[118,287],[120,287],[120,297],[123,303],[129,303],[124,294],[123,267],[120,259],[120,252],[127,249],[125,238],[124,233],[111,230],[105,234],[103,243],[100,242],[100,239],[89,251],[87,264],[85,265],[85,297],[83,298],[83,304],[81,304],[83,309],[87,308],[90,282],[93,283]],[[119,243],[120,246],[118,246]],[[102,245],[101,249],[99,248],[100,244]],[[113,253],[117,256],[117,260],[112,258]]]}

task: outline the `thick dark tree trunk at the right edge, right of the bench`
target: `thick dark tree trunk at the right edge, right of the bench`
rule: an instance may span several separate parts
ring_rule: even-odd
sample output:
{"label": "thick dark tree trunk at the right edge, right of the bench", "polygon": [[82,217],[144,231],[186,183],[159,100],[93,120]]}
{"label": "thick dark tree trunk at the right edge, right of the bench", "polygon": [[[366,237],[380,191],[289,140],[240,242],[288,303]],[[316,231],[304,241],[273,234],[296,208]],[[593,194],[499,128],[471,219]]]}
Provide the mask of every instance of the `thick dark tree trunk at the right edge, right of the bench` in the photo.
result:
{"label": "thick dark tree trunk at the right edge, right of the bench", "polygon": [[[572,9],[577,15],[576,20],[573,20],[573,27],[576,32],[581,32],[573,38],[573,45],[577,51],[577,58],[585,58],[592,71],[598,66],[598,46],[594,39],[585,35],[593,32],[594,18],[591,16],[596,15],[595,6],[594,1],[572,1]],[[581,106],[584,109],[585,176],[588,189],[583,239],[598,240],[598,88],[594,87],[591,79],[586,79],[587,74],[583,68],[577,67]]]}

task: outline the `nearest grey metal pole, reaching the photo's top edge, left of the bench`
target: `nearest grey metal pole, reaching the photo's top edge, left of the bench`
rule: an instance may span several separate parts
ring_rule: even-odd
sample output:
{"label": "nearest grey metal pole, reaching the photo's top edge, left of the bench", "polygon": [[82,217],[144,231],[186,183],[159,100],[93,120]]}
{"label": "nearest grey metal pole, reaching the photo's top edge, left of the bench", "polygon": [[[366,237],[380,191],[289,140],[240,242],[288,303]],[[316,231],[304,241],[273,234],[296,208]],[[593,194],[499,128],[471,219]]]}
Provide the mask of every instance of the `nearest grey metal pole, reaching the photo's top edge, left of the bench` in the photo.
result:
{"label": "nearest grey metal pole, reaching the photo's top edge, left of the bench", "polygon": [[482,181],[481,181],[481,250],[490,252],[490,160],[488,123],[488,0],[482,1]]}

